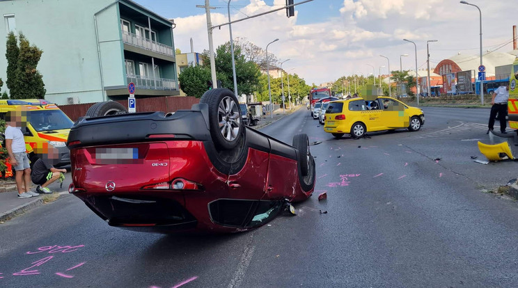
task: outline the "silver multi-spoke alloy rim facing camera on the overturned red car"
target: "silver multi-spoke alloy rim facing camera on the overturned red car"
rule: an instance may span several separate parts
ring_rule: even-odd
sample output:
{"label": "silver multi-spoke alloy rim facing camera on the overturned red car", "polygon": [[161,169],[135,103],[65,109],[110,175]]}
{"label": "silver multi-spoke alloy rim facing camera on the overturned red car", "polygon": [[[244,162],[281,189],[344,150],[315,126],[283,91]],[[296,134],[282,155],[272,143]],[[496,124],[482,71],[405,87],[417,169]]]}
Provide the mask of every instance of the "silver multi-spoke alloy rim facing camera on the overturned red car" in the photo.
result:
{"label": "silver multi-spoke alloy rim facing camera on the overturned red car", "polygon": [[240,130],[241,117],[239,108],[232,97],[223,97],[219,102],[218,120],[221,136],[228,142],[235,141]]}

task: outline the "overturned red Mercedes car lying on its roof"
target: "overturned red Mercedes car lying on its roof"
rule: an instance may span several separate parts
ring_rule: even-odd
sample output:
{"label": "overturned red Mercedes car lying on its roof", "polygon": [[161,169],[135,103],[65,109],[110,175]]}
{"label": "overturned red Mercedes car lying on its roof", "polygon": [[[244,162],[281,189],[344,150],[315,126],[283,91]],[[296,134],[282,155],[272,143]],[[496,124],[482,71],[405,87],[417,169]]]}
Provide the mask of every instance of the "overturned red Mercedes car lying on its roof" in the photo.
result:
{"label": "overturned red Mercedes car lying on its roof", "polygon": [[67,142],[69,191],[109,225],[133,230],[264,225],[313,193],[315,161],[306,134],[290,146],[240,117],[237,98],[221,88],[191,110],[83,118]]}

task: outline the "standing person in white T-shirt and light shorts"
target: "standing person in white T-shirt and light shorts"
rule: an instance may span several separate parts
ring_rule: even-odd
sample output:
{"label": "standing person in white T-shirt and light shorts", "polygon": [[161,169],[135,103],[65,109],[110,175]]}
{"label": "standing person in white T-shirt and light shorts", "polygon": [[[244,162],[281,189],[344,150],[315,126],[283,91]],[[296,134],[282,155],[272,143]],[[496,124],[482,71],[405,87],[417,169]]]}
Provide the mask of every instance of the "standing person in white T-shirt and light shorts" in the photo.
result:
{"label": "standing person in white T-shirt and light shorts", "polygon": [[16,171],[16,187],[18,198],[31,198],[40,194],[31,191],[31,166],[25,152],[24,134],[21,128],[26,122],[26,111],[9,111],[6,113],[6,149],[9,161]]}

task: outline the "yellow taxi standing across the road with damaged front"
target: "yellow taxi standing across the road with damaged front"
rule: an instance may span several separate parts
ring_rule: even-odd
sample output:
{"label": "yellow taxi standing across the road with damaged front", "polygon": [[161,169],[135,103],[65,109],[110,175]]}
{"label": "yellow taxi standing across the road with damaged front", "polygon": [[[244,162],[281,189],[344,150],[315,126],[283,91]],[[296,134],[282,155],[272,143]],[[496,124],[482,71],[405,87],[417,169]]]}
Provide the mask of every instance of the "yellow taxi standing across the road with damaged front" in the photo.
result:
{"label": "yellow taxi standing across the road with damaged front", "polygon": [[360,138],[367,131],[383,131],[407,128],[418,131],[425,124],[425,113],[416,107],[393,99],[360,97],[333,101],[327,107],[324,119],[324,131],[341,138],[351,134]]}

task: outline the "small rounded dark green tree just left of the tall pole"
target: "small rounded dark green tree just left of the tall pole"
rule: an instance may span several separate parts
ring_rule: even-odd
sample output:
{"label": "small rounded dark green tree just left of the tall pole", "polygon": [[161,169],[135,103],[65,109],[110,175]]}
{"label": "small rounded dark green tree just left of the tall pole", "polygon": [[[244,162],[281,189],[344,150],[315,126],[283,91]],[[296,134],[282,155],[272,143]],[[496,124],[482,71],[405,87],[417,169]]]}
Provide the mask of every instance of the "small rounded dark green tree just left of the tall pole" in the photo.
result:
{"label": "small rounded dark green tree just left of the tall pole", "polygon": [[210,70],[199,65],[185,68],[178,76],[182,90],[196,98],[200,98],[207,91],[207,81],[210,79]]}

